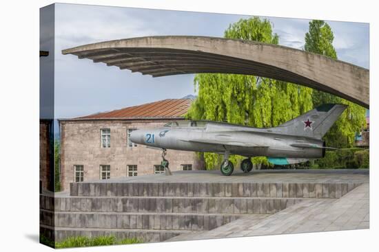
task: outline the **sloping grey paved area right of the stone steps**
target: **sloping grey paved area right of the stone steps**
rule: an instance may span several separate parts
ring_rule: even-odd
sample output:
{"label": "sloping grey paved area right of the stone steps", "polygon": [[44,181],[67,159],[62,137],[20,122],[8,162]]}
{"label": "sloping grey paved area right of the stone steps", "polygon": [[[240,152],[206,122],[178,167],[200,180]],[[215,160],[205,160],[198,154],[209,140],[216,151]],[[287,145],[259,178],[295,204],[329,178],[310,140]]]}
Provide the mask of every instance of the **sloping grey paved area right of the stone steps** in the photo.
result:
{"label": "sloping grey paved area right of the stone steps", "polygon": [[369,183],[364,183],[336,200],[308,199],[263,218],[246,216],[211,231],[183,234],[168,241],[368,228]]}

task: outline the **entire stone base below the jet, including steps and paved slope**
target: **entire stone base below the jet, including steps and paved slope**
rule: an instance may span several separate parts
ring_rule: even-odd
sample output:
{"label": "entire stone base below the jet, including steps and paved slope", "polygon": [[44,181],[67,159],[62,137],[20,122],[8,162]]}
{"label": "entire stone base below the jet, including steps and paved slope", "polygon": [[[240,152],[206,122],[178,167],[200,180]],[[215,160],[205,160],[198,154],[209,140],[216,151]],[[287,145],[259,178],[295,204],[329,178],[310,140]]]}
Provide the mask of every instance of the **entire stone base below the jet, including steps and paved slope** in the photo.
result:
{"label": "entire stone base below the jet, including steps and paved slope", "polygon": [[[368,182],[369,170],[182,171],[85,181],[40,196],[41,232],[56,241],[112,234],[158,242],[362,228],[368,191],[356,190]],[[346,219],[352,211],[359,223]]]}

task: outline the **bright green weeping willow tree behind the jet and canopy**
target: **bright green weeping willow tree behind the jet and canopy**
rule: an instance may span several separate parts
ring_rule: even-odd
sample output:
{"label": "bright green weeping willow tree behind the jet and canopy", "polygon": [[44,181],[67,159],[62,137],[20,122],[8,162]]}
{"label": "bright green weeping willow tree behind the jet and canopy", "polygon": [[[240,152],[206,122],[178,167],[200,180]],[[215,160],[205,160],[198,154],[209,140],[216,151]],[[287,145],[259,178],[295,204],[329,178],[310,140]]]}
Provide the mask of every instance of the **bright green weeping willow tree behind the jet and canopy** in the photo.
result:
{"label": "bright green weeping willow tree behind the jet and canopy", "polygon": [[[225,38],[240,38],[275,44],[277,34],[267,19],[258,17],[240,19],[229,25]],[[312,108],[312,90],[279,80],[221,73],[200,73],[194,78],[198,98],[189,108],[188,117],[209,119],[254,127],[278,126]],[[221,163],[221,156],[205,153],[207,169]],[[234,164],[241,157],[232,156]],[[265,157],[256,157],[253,163],[265,163]]]}

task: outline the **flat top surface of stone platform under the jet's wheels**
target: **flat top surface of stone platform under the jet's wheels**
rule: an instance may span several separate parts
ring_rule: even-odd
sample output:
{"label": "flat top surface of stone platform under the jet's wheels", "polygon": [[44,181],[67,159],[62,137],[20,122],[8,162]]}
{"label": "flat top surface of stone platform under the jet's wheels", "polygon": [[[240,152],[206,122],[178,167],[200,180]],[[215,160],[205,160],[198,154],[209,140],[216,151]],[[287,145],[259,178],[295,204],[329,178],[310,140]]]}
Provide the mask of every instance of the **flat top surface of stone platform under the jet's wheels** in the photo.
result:
{"label": "flat top surface of stone platform under the jet's wheels", "polygon": [[253,170],[243,173],[236,168],[231,176],[223,176],[219,170],[192,170],[173,172],[173,176],[150,174],[82,183],[363,183],[368,181],[368,175],[368,169]]}

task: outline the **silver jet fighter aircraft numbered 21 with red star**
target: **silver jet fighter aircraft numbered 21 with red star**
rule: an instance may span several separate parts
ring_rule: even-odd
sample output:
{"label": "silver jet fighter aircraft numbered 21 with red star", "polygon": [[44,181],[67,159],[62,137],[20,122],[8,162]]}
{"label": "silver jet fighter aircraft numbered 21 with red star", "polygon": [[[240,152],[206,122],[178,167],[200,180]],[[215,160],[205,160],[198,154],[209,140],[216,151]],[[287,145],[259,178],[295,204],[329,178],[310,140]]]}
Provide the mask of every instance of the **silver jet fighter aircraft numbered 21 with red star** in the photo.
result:
{"label": "silver jet fighter aircraft numbered 21 with red star", "polygon": [[225,122],[183,120],[161,128],[132,131],[131,141],[163,150],[162,165],[171,174],[166,150],[188,150],[224,154],[221,173],[229,176],[234,165],[230,154],[247,157],[240,164],[243,172],[253,168],[251,158],[267,157],[270,163],[287,165],[325,156],[322,136],[347,108],[342,104],[323,104],[272,128],[252,128]]}

